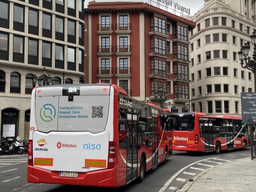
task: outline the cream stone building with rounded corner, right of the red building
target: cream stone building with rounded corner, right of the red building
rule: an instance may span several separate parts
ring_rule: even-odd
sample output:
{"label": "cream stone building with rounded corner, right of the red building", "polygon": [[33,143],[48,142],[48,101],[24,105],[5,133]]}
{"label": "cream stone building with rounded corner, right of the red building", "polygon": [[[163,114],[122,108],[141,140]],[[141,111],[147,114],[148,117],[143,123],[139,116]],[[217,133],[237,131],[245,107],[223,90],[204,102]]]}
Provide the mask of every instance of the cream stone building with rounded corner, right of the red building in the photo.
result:
{"label": "cream stone building with rounded corner, right of the red building", "polygon": [[[240,92],[254,92],[254,74],[240,65],[240,47],[256,29],[255,1],[205,0],[190,20],[191,110],[241,115]],[[250,44],[249,59],[253,46]]]}

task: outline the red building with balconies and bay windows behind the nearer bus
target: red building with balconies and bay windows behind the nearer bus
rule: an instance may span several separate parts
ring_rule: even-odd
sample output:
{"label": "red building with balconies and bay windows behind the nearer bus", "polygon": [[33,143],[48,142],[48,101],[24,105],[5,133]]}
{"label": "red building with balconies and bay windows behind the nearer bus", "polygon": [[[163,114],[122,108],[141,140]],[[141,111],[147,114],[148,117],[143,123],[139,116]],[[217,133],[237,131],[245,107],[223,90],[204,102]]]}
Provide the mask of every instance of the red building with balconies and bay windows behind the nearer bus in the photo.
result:
{"label": "red building with balconies and bay windows behind the nearer bus", "polygon": [[189,31],[195,22],[144,2],[89,2],[85,14],[85,83],[117,84],[138,100],[164,95],[188,108]]}

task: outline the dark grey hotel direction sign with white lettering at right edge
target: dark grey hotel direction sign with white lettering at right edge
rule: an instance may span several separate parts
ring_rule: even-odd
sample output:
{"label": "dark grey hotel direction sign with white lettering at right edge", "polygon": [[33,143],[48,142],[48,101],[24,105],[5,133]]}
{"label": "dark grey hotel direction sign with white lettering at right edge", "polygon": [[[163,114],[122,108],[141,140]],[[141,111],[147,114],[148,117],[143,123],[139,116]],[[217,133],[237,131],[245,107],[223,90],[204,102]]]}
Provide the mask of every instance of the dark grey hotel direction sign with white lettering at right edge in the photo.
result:
{"label": "dark grey hotel direction sign with white lettering at right edge", "polygon": [[256,123],[256,93],[241,93],[242,123]]}

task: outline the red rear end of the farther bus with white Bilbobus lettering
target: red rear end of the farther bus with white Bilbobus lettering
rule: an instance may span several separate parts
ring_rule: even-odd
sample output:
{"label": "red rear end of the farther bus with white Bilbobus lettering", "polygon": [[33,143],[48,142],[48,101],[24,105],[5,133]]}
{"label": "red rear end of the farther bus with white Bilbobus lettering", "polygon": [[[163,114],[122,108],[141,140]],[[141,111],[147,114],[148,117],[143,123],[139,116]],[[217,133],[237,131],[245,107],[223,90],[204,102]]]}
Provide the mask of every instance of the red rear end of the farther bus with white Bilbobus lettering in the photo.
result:
{"label": "red rear end of the farther bus with white Bilbobus lettering", "polygon": [[204,151],[200,142],[199,115],[204,113],[172,113],[172,150]]}

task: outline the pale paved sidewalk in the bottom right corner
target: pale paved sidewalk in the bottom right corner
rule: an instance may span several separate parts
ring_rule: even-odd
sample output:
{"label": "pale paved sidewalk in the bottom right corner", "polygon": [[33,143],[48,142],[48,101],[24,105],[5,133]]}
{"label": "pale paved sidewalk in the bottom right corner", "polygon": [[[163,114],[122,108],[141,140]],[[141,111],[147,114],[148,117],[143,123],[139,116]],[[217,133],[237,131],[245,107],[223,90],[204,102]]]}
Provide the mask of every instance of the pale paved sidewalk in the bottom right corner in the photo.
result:
{"label": "pale paved sidewalk in the bottom right corner", "polygon": [[177,192],[256,191],[256,160],[242,158],[202,171]]}

